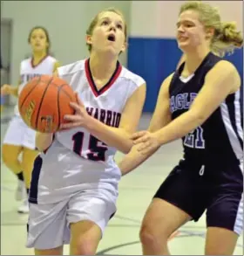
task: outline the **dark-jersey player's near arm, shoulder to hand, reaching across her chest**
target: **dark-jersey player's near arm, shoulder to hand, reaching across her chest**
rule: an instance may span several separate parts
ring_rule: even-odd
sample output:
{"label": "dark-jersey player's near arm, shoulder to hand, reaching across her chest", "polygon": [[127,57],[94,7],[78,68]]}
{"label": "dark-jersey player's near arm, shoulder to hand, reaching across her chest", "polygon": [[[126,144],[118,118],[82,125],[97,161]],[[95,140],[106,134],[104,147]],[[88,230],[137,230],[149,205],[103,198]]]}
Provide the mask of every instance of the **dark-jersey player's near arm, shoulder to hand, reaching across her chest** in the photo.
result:
{"label": "dark-jersey player's near arm, shoulder to hand, reaching across her chest", "polygon": [[230,62],[221,60],[207,73],[204,86],[186,113],[155,133],[142,131],[132,135],[133,142],[142,143],[138,150],[147,154],[153,148],[182,138],[205,122],[227,95],[237,91],[240,86],[241,78],[236,68]]}

